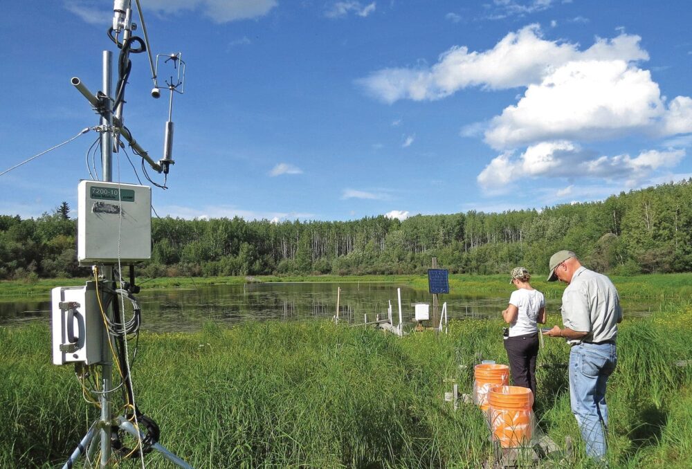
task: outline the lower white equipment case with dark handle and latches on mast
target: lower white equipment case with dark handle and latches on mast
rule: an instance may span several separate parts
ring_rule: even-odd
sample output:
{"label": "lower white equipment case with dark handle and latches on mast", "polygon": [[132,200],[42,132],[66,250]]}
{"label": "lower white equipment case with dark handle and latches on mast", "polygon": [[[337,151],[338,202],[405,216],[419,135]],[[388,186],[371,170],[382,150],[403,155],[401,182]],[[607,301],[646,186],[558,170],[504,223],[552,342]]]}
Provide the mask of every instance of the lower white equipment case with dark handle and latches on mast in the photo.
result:
{"label": "lower white equipment case with dark handle and latches on mast", "polygon": [[95,282],[55,287],[51,300],[53,363],[101,362],[104,324]]}

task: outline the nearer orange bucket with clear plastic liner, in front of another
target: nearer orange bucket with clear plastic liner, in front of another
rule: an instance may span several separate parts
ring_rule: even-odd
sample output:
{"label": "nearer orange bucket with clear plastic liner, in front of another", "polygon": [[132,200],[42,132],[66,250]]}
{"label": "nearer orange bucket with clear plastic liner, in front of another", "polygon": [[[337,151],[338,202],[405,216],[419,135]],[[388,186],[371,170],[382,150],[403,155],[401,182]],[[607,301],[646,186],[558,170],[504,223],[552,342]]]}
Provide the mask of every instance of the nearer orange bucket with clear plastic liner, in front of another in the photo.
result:
{"label": "nearer orange bucket with clear plastic liner, in front of another", "polygon": [[534,432],[534,394],[519,386],[496,386],[490,389],[489,419],[493,439],[502,448],[516,448],[531,441]]}

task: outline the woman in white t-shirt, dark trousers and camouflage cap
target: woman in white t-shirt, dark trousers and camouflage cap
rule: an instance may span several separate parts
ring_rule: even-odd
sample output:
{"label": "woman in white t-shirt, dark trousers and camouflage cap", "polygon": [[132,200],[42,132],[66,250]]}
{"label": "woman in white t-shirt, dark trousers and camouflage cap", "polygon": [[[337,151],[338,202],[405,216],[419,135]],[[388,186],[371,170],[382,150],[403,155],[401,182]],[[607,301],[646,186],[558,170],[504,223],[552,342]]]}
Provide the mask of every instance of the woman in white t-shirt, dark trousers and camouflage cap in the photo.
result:
{"label": "woman in white t-shirt, dark trousers and camouflage cap", "polygon": [[523,267],[512,270],[509,281],[516,291],[509,297],[509,306],[502,318],[509,324],[504,349],[509,358],[509,371],[515,386],[528,387],[536,401],[536,357],[538,357],[538,326],[545,324],[545,297],[529,284],[531,274]]}

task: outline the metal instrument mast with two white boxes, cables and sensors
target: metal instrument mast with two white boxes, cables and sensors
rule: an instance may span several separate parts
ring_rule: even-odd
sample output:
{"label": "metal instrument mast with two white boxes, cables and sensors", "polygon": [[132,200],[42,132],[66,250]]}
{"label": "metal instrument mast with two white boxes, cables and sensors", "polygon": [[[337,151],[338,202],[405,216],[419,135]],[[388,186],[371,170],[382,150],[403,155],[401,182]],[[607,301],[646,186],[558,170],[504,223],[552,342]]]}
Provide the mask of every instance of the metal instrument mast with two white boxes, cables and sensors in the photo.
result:
{"label": "metal instrument mast with two white boxes, cables and sensors", "polygon": [[[149,37],[139,0],[135,0],[144,39],[134,35],[137,25],[132,22],[132,1],[115,0],[113,22],[107,34],[119,50],[116,85],[112,87],[112,55],[102,55],[102,89],[95,95],[79,77],[71,83],[100,116],[93,127],[99,133],[101,149],[101,180],[89,174],[92,180],[78,185],[78,261],[91,266],[93,279],[84,286],[57,287],[51,294],[51,332],[53,363],[73,365],[85,392],[100,407],[100,419],[95,421],[77,445],[64,468],[71,468],[84,454],[86,466],[100,448],[100,468],[114,466],[127,457],[137,457],[144,466],[144,456],[151,450],[181,468],[188,463],[158,443],[158,425],[141,412],[135,401],[128,354],[128,338],[139,333],[141,310],[136,300],[139,287],[135,284],[134,264],[146,261],[152,255],[152,189],[147,185],[113,181],[112,157],[125,150],[125,142],[142,158],[142,172],[147,181],[166,189],[167,175],[173,159],[172,111],[174,95],[185,89],[185,62],[181,53],[158,54],[156,64],[149,46]],[[163,152],[158,160],[137,142],[131,129],[125,125],[125,89],[131,71],[131,54],[147,53],[154,88],[152,97],[161,97],[161,88],[169,91],[168,116],[165,122]],[[165,75],[159,86],[158,75]],[[87,131],[89,129],[85,129]],[[82,133],[84,133],[82,131]],[[92,145],[92,147],[95,146]],[[88,156],[91,152],[87,152]],[[129,156],[128,156],[129,158]],[[93,158],[95,160],[95,158]],[[159,174],[163,183],[149,178],[145,163]],[[98,176],[98,169],[93,163]],[[129,266],[129,279],[122,279],[123,266]],[[117,275],[116,275],[117,273]],[[128,306],[126,308],[126,305]],[[131,317],[125,319],[126,309]],[[129,313],[127,313],[129,315]],[[113,367],[120,383],[113,385]],[[100,370],[99,370],[100,369]],[[122,414],[116,416],[114,402],[122,396]],[[86,396],[86,395],[85,395]],[[123,440],[134,439],[133,448],[126,448]],[[96,442],[99,441],[100,445]]]}

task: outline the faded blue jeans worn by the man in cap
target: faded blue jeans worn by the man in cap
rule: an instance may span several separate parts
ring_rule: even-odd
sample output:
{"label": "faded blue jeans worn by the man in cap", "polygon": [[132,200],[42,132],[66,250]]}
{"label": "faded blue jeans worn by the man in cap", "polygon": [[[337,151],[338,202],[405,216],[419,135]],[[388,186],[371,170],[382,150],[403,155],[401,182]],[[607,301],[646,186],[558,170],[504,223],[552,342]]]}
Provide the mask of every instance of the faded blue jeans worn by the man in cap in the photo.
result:
{"label": "faded blue jeans worn by the man in cap", "polygon": [[615,344],[578,344],[570,350],[572,414],[586,443],[586,454],[594,459],[605,457],[605,384],[616,365]]}

